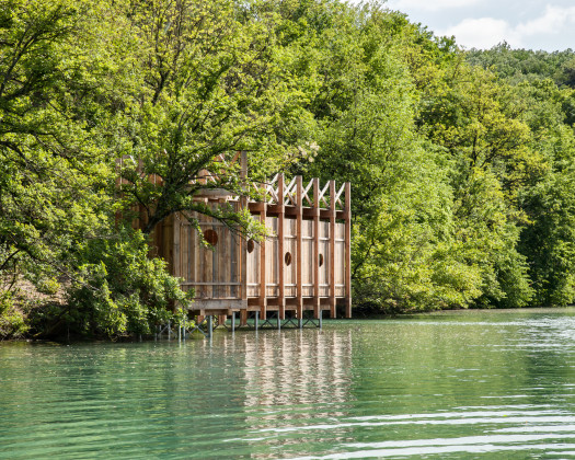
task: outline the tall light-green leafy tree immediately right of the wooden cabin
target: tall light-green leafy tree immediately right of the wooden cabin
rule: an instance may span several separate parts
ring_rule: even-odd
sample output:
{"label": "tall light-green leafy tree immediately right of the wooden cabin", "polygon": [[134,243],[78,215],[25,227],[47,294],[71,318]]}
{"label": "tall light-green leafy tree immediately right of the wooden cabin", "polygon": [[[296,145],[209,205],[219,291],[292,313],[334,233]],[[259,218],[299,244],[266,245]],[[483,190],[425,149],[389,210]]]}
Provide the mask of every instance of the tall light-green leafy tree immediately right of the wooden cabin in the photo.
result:
{"label": "tall light-green leafy tree immediately right of the wooden cabin", "polygon": [[[353,184],[356,306],[467,307],[481,279],[450,250],[449,160],[414,125],[417,89],[401,45],[419,31],[377,5],[338,7],[313,34],[298,36],[320,84],[310,101],[320,149],[295,171]],[[318,9],[304,14],[314,19]]]}

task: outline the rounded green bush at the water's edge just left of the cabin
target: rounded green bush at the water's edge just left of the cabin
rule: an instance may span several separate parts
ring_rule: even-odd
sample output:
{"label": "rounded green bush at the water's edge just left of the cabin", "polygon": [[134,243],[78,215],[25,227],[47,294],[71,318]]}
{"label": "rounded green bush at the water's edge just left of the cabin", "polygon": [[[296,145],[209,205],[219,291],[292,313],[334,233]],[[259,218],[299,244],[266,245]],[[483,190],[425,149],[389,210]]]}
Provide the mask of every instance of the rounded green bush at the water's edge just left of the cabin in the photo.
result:
{"label": "rounded green bush at the water's edge just left of the cabin", "polygon": [[186,308],[191,298],[179,279],[148,251],[142,233],[127,229],[114,240],[85,241],[78,250],[79,274],[66,292],[67,325],[92,335],[149,334]]}

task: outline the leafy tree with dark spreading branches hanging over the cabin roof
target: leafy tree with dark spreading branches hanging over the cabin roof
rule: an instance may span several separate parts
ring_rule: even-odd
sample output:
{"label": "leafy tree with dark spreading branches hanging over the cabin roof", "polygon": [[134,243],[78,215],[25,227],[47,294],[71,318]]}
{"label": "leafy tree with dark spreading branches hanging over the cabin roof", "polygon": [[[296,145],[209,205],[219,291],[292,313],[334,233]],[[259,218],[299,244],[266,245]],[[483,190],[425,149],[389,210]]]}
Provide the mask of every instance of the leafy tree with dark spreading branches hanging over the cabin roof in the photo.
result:
{"label": "leafy tree with dark spreading branches hanging over the cabin roof", "polygon": [[[206,188],[245,193],[231,162],[237,150],[250,151],[248,182],[265,180],[297,151],[285,137],[309,116],[289,50],[277,44],[277,15],[255,16],[229,0],[133,2],[124,13],[141,84],[122,133],[120,153],[134,159],[122,168],[127,206],[145,208],[145,233],[193,210],[253,230],[249,215],[214,211],[194,196]],[[215,182],[202,180],[205,171],[216,172]]]}

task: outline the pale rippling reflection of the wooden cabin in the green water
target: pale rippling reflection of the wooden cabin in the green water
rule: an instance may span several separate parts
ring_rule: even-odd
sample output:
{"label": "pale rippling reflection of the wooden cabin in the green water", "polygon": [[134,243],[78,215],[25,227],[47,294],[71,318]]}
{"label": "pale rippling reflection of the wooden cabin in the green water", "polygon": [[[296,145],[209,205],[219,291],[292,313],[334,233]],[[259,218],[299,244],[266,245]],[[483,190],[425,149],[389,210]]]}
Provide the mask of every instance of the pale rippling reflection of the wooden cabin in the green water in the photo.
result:
{"label": "pale rippling reflection of the wooden cabin in the green water", "polygon": [[[329,436],[337,441],[347,438],[347,430],[313,430],[348,416],[352,400],[352,333],[350,331],[266,331],[218,337],[214,344],[242,363],[242,388],[245,428],[253,444],[272,448],[289,447],[298,451],[302,433],[314,441]],[[221,348],[220,348],[220,345]],[[240,358],[241,356],[241,358]],[[235,404],[240,401],[230,401]],[[294,432],[290,432],[290,428]],[[239,440],[239,439],[235,439]],[[244,440],[249,440],[245,439]],[[288,450],[285,450],[288,449]],[[252,457],[265,458],[267,449],[256,449]],[[277,452],[276,452],[277,455]]]}

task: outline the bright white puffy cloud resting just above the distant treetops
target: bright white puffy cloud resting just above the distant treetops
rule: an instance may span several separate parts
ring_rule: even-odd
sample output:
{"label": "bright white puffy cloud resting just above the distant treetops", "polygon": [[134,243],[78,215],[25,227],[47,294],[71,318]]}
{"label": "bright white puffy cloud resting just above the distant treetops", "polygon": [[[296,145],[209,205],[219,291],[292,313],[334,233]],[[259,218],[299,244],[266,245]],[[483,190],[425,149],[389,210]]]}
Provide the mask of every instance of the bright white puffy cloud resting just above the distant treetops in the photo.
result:
{"label": "bright white puffy cloud resting just above the distant treetops", "polygon": [[494,18],[465,19],[459,24],[437,35],[455,35],[457,43],[467,48],[491,48],[506,41],[511,46],[520,46],[520,37],[507,21]]}

